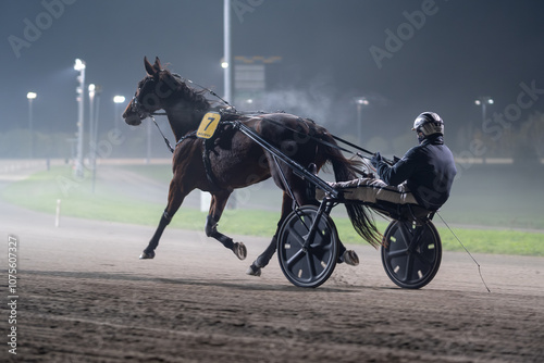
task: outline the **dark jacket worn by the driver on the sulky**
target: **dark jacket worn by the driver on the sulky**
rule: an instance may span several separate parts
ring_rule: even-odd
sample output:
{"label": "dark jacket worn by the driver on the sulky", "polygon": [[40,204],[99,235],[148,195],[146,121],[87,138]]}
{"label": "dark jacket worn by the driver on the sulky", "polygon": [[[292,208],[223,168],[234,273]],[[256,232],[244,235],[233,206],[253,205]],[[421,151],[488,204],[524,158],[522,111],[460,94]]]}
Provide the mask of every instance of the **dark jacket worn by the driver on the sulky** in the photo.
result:
{"label": "dark jacket worn by the driver on the sulky", "polygon": [[397,186],[406,182],[418,203],[432,211],[449,198],[457,174],[454,155],[440,135],[431,136],[408,150],[393,166],[380,161],[376,171],[387,185]]}

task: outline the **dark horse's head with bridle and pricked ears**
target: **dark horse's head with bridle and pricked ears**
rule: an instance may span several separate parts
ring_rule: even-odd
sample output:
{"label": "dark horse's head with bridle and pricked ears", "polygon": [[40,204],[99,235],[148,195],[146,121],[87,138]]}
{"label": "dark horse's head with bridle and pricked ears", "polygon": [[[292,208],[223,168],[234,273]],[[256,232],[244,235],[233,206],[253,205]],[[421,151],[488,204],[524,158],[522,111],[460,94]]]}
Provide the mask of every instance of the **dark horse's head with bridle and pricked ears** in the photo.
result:
{"label": "dark horse's head with bridle and pricked ears", "polygon": [[161,61],[156,58],[154,64],[144,58],[147,75],[138,83],[138,88],[133,99],[123,113],[123,118],[128,125],[139,125],[144,118],[151,116],[158,110],[171,108],[174,103],[183,101],[178,96],[183,88],[188,88],[181,77],[163,70]]}

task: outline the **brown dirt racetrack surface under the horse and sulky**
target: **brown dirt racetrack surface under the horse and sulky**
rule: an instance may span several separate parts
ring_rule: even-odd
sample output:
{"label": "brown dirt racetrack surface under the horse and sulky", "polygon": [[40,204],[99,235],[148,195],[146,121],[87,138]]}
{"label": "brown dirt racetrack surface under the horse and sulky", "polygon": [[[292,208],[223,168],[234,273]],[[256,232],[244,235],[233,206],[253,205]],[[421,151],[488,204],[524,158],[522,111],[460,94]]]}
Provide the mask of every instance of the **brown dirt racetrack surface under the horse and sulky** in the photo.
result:
{"label": "brown dirt racetrack surface under the horse and sulky", "polygon": [[[0,361],[542,362],[544,259],[445,252],[421,290],[397,288],[378,251],[353,247],[318,289],[292,286],[277,261],[245,275],[268,240],[237,237],[238,261],[202,233],[54,217],[0,203],[2,238],[20,240],[17,355],[8,353],[2,278]],[[203,221],[202,221],[203,222]],[[5,246],[5,245],[4,245]],[[7,248],[1,250],[2,275]]]}

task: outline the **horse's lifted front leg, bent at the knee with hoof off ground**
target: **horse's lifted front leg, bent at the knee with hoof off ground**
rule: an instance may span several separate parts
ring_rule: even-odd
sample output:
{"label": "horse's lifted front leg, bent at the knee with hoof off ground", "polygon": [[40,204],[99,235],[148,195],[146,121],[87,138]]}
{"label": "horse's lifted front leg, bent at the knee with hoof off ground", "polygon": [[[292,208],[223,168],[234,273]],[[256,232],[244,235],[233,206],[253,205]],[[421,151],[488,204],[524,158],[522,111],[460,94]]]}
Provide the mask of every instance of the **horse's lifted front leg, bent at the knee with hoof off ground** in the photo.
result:
{"label": "horse's lifted front leg, bent at the knee with hoof off ground", "polygon": [[212,195],[210,211],[206,217],[205,231],[206,236],[213,237],[220,241],[225,248],[232,250],[240,260],[245,260],[247,255],[246,246],[242,242],[234,242],[228,236],[223,235],[218,230],[218,223],[223,214],[231,191],[221,191]]}

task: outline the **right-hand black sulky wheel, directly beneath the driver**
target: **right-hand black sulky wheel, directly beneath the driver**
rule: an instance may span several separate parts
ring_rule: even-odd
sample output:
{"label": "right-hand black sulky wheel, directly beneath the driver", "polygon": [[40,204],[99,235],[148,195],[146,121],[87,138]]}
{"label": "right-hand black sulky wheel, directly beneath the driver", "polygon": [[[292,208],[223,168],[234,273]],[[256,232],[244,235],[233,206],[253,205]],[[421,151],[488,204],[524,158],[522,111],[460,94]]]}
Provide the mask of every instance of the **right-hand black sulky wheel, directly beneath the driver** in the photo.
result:
{"label": "right-hand black sulky wheel, directly beneath the driver", "polygon": [[382,264],[396,285],[419,289],[438,271],[442,242],[431,221],[424,224],[393,221],[385,229]]}

